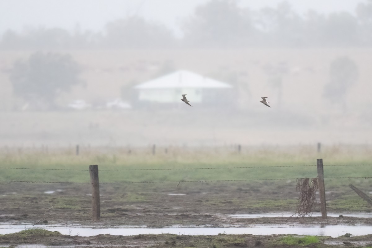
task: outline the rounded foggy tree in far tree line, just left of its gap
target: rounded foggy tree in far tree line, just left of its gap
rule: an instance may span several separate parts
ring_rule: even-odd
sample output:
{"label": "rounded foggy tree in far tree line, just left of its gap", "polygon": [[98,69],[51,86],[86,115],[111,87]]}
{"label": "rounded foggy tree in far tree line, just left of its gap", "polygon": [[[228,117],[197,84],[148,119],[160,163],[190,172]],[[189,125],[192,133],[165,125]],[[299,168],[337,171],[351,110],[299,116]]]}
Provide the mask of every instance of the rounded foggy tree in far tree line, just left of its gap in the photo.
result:
{"label": "rounded foggy tree in far tree line, just left of its gap", "polygon": [[163,25],[132,16],[110,22],[105,28],[110,48],[167,48],[174,46],[173,33]]}

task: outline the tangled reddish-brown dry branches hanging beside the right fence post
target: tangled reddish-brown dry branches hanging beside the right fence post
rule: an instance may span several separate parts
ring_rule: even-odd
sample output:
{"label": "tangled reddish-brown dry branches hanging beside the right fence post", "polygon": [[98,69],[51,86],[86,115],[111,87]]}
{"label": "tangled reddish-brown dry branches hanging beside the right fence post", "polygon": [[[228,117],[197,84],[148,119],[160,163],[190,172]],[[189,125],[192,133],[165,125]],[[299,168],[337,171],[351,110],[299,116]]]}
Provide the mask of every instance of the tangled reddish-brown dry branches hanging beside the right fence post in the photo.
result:
{"label": "tangled reddish-brown dry branches hanging beside the right fence post", "polygon": [[297,216],[311,216],[315,209],[315,193],[318,190],[318,178],[299,178],[297,179],[296,190],[300,196],[297,202]]}

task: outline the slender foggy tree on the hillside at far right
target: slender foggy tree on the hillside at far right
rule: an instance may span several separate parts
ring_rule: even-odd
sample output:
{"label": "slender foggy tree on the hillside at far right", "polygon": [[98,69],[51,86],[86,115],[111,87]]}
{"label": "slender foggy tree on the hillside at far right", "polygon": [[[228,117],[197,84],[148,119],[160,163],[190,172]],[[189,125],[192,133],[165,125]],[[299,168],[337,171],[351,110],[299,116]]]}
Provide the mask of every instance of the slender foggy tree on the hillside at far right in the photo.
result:
{"label": "slender foggy tree on the hillside at far right", "polygon": [[358,68],[348,57],[334,59],[329,69],[330,81],[324,87],[324,97],[346,110],[347,90],[357,81]]}

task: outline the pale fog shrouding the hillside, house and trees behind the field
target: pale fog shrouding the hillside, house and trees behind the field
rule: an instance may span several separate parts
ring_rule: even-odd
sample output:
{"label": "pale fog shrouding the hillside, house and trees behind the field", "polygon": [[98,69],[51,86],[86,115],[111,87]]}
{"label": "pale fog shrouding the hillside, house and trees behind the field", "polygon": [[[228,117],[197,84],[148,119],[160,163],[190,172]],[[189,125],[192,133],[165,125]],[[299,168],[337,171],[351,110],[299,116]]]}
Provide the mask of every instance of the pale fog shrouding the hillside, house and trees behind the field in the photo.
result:
{"label": "pale fog shrouding the hillside, house and trees behind the field", "polygon": [[0,9],[2,147],[371,147],[371,0]]}

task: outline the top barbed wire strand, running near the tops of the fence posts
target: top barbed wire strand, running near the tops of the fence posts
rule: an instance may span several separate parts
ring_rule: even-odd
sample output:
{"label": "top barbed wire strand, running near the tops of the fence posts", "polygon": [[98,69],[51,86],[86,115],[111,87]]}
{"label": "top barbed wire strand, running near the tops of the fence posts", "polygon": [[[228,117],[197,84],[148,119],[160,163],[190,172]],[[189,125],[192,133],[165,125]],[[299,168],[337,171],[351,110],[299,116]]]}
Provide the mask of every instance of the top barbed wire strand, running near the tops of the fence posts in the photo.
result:
{"label": "top barbed wire strand, running near the tops of the fence posts", "polygon": [[[371,166],[372,164],[324,164],[323,166]],[[154,168],[154,169],[103,169],[99,171],[147,171],[147,170],[213,170],[213,169],[250,169],[250,168],[280,168],[280,167],[307,167],[317,165],[278,165],[278,166],[246,166],[246,167],[205,167],[205,168]],[[0,167],[0,169],[19,169],[19,170],[58,170],[58,171],[89,171],[81,169],[51,169],[51,168],[16,168]]]}

